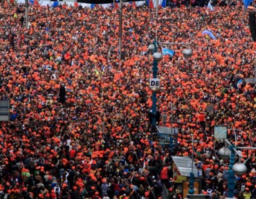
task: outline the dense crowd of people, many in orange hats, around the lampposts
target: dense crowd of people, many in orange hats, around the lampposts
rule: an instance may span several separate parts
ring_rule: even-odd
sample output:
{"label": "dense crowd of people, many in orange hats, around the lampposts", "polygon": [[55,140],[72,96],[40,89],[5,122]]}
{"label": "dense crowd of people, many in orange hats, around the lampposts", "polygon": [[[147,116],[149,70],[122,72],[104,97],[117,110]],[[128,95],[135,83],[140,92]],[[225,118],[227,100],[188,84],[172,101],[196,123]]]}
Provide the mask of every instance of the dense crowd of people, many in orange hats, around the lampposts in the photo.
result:
{"label": "dense crowd of people, many in orange hats, around the lampposts", "polygon": [[[0,6],[0,100],[10,100],[10,121],[0,126],[0,198],[156,199],[165,187],[182,198],[172,155],[191,157],[191,135],[202,194],[226,196],[213,127],[241,130],[238,146],[255,143],[255,85],[245,82],[255,76],[255,43],[242,1],[160,9],[158,19],[148,6],[127,4],[121,60],[117,8],[30,5],[28,29],[23,11]],[[168,116],[158,125],[171,127],[173,115],[179,129],[173,148],[159,143],[148,117],[153,30],[161,42],[190,43],[159,44],[175,51],[159,62],[157,94]],[[184,48],[192,57],[182,57]],[[255,150],[241,153],[248,172],[235,195],[255,198]]]}

